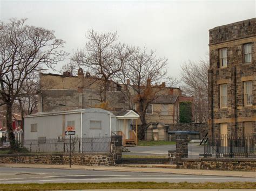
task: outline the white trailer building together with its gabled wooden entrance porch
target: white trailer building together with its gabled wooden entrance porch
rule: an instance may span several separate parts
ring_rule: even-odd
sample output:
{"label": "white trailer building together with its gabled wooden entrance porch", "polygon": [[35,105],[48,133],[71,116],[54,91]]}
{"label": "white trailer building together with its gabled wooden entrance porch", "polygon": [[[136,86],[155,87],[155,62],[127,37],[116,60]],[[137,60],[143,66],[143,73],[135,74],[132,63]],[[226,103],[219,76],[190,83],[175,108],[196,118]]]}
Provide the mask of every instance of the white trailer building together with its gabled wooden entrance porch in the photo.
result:
{"label": "white trailer building together with its gabled wooden entrance porch", "polygon": [[[85,138],[111,137],[112,132],[123,135],[123,139],[134,139],[137,143],[137,132],[131,131],[131,120],[138,119],[139,115],[132,111],[126,111],[115,116],[110,111],[99,108],[41,112],[24,117],[24,140],[28,147],[28,140],[35,143],[44,143],[45,139],[65,138],[68,128],[74,129],[79,140],[79,150],[83,151],[83,140]],[[125,145],[125,141],[123,141]],[[32,145],[32,142],[31,144]],[[57,151],[57,150],[56,150]]]}

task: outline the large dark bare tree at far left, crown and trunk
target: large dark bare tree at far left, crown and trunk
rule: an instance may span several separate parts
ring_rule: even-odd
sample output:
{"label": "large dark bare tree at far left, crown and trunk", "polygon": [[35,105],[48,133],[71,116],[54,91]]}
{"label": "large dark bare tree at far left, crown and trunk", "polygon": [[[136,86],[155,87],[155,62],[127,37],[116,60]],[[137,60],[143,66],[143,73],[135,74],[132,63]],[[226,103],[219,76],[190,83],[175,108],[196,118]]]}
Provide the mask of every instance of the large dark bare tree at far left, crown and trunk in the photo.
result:
{"label": "large dark bare tree at far left, crown and trunk", "polygon": [[10,19],[0,23],[0,95],[6,105],[6,126],[11,148],[15,148],[12,131],[12,105],[21,97],[24,83],[35,72],[52,68],[66,53],[60,48],[64,41],[54,31],[25,25],[26,19]]}

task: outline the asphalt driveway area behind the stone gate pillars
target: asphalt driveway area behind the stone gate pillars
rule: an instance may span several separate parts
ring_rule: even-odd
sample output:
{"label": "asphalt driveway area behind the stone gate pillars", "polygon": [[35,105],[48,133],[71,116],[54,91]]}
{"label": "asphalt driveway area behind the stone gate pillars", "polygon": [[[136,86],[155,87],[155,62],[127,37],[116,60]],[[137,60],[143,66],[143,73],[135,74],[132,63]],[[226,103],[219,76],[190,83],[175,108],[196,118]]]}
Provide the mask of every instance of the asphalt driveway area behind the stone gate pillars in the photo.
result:
{"label": "asphalt driveway area behind the stone gate pillars", "polygon": [[[123,152],[127,155],[168,155],[169,150],[176,150],[176,145],[160,145],[160,146],[134,146],[126,147],[130,152]],[[192,151],[192,152],[191,152]],[[198,158],[199,154],[204,153],[204,146],[199,143],[188,143],[188,157]]]}

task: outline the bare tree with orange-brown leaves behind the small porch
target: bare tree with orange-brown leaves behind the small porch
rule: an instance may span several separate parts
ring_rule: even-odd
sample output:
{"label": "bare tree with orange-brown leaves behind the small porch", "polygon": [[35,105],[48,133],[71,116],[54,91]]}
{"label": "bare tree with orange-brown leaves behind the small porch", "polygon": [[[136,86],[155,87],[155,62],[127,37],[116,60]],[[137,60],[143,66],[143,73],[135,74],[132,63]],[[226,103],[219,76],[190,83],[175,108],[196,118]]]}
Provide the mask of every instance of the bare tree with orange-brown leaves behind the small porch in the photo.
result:
{"label": "bare tree with orange-brown leaves behind the small porch", "polygon": [[137,48],[137,51],[133,53],[133,59],[123,69],[123,83],[125,83],[124,79],[130,79],[131,82],[129,87],[133,93],[130,95],[137,105],[136,110],[142,122],[142,138],[144,138],[147,125],[146,109],[165,88],[161,82],[165,82],[170,87],[178,83],[177,79],[167,75],[167,59],[157,58],[155,53],[156,51],[147,53],[145,47],[144,49]]}

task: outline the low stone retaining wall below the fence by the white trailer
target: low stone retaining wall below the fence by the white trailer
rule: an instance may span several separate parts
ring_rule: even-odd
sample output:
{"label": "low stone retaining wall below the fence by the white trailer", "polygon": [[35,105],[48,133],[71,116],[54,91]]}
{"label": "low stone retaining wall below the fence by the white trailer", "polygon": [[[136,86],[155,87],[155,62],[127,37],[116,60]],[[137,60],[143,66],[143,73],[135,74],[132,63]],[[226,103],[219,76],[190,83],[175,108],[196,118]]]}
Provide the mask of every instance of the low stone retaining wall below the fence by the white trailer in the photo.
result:
{"label": "low stone retaining wall below the fence by the white trailer", "polygon": [[[68,165],[69,154],[0,154],[1,163]],[[112,155],[107,154],[72,154],[72,165],[112,166]]]}

